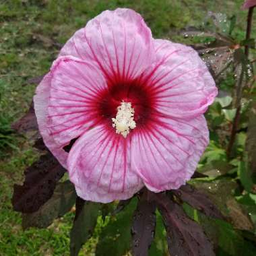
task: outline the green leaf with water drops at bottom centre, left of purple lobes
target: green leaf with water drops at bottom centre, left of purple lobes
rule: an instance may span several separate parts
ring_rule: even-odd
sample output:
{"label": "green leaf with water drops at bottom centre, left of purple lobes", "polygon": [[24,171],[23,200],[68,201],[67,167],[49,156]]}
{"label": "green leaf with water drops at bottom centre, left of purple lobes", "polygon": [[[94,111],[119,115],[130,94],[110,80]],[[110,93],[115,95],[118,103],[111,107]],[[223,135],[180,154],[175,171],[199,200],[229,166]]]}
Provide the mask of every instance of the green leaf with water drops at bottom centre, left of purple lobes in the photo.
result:
{"label": "green leaf with water drops at bottom centre, left of purple lobes", "polygon": [[136,205],[137,198],[133,198],[126,205],[125,210],[116,216],[110,216],[108,225],[100,234],[96,256],[106,255],[106,253],[111,256],[121,256],[129,251],[131,247],[131,222]]}

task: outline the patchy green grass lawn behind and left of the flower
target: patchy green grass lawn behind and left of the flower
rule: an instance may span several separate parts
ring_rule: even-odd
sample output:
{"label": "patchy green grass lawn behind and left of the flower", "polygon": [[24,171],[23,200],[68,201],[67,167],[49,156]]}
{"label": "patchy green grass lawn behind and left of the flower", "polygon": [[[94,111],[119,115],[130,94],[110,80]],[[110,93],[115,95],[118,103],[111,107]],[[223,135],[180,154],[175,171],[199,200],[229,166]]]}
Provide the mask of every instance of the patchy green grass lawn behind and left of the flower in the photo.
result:
{"label": "patchy green grass lawn behind and left of the flower", "polygon": [[[26,112],[35,86],[26,79],[49,70],[58,53],[53,42],[64,43],[78,28],[104,9],[131,7],[141,13],[154,37],[186,42],[177,31],[199,26],[208,10],[241,13],[235,33],[243,37],[246,12],[243,0],[9,0],[0,1],[0,126],[9,125]],[[2,114],[3,113],[3,114]],[[1,116],[1,117],[2,117]],[[5,126],[3,126],[3,124]],[[37,157],[26,139],[12,133],[1,149],[0,160],[0,255],[69,255],[69,230],[73,214],[67,214],[47,229],[23,231],[21,215],[11,207],[12,187],[22,183],[23,172]],[[1,146],[3,140],[0,138]],[[1,148],[1,147],[0,147]],[[19,149],[17,149],[19,148]],[[81,255],[90,255],[96,238],[86,244]]]}

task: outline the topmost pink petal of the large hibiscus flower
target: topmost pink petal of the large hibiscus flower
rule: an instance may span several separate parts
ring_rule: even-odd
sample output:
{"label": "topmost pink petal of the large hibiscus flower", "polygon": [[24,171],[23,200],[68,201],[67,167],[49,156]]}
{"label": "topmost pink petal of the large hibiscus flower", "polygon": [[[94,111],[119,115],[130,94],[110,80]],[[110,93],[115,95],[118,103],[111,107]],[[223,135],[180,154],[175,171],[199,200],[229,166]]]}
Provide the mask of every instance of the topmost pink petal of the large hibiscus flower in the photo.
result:
{"label": "topmost pink petal of the large hibiscus flower", "polygon": [[103,11],[67,41],[60,55],[96,61],[110,81],[133,79],[152,62],[150,28],[131,9]]}

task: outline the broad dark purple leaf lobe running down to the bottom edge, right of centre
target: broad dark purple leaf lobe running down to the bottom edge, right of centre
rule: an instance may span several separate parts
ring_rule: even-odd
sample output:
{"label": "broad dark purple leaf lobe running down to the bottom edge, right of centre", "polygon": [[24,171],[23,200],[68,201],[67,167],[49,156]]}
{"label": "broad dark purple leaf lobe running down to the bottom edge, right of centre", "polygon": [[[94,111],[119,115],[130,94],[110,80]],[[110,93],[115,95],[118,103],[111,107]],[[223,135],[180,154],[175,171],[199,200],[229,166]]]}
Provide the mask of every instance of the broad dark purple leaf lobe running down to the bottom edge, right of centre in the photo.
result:
{"label": "broad dark purple leaf lobe running down to the bottom edge, right of centre", "polygon": [[156,194],[156,203],[164,220],[170,255],[215,255],[201,226],[187,217],[181,205],[174,203],[165,193]]}

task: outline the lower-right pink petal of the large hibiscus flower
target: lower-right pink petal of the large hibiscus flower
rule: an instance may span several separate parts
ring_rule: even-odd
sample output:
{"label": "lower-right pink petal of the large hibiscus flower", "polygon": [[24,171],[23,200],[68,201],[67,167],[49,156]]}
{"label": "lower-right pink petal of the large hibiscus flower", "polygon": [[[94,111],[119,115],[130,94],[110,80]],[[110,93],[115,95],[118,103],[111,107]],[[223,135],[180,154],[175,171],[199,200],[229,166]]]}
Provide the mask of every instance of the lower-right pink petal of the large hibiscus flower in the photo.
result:
{"label": "lower-right pink petal of the large hibiscus flower", "polygon": [[193,175],[208,142],[203,115],[189,121],[161,118],[133,133],[131,168],[151,191],[178,189]]}

